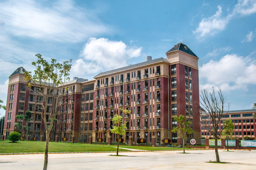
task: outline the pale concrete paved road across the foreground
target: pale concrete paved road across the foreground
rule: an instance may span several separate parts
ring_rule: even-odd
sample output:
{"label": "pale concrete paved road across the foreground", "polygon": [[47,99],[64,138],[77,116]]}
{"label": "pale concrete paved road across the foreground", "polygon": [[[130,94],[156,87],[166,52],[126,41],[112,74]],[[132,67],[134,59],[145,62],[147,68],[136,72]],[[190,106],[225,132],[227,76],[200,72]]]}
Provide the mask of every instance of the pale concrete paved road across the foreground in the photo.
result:
{"label": "pale concrete paved road across the foreground", "polygon": [[[226,152],[219,150],[225,164],[214,161],[214,150],[62,153],[49,154],[48,170],[256,170],[256,150]],[[42,170],[43,154],[0,155],[0,170]]]}

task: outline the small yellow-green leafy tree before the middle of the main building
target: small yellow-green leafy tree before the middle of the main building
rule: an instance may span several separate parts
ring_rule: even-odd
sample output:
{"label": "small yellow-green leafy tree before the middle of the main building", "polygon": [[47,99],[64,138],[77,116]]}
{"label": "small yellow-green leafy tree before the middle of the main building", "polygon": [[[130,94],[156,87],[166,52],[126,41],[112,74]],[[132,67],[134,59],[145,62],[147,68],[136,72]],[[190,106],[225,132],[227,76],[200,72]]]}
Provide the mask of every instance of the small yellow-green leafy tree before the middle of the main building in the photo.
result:
{"label": "small yellow-green leafy tree before the middle of the main building", "polygon": [[118,155],[118,150],[119,150],[120,135],[124,135],[125,129],[126,129],[126,123],[123,123],[123,115],[130,113],[130,110],[121,110],[121,111],[123,112],[122,116],[115,114],[115,116],[113,117],[113,122],[116,126],[113,126],[113,129],[111,129],[111,133],[118,134],[117,155]]}

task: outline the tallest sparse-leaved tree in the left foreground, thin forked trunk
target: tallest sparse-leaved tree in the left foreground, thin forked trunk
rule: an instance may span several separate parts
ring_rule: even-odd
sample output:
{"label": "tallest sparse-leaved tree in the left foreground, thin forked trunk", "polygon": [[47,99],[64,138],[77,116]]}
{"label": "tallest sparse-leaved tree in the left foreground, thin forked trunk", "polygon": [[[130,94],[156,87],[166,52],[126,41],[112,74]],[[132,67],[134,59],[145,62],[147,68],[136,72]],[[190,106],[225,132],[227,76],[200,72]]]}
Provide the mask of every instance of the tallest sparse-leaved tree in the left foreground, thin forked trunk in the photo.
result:
{"label": "tallest sparse-leaved tree in the left foreground, thin forked trunk", "polygon": [[[28,88],[33,90],[35,93],[40,94],[43,98],[42,103],[42,119],[44,120],[45,130],[46,130],[46,147],[45,147],[45,161],[43,170],[47,170],[48,165],[48,147],[49,147],[49,134],[53,128],[54,119],[57,114],[58,104],[60,99],[64,96],[64,91],[67,88],[60,88],[59,86],[64,86],[65,82],[69,80],[69,72],[71,69],[71,61],[64,61],[62,63],[57,63],[56,59],[51,59],[48,63],[42,58],[41,54],[36,54],[37,61],[32,62],[32,65],[36,67],[35,73],[32,76],[31,72],[25,71],[24,80],[28,82]],[[34,87],[35,86],[35,87]],[[36,89],[36,90],[35,90]],[[59,92],[59,93],[58,93]],[[48,111],[48,99],[52,98],[53,104],[49,105]],[[50,118],[50,121],[49,121]]]}

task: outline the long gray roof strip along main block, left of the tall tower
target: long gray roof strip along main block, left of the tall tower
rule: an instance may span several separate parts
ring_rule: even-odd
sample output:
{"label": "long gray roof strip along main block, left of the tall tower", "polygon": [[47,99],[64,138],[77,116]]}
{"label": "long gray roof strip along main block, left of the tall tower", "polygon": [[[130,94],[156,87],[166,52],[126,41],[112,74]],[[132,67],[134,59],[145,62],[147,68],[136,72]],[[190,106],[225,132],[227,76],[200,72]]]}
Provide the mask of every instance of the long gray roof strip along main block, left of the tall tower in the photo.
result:
{"label": "long gray roof strip along main block, left of the tall tower", "polygon": [[94,76],[94,78],[97,78],[97,77],[100,77],[100,76],[105,76],[105,75],[108,75],[108,74],[117,73],[119,71],[125,71],[125,70],[132,69],[132,68],[138,68],[138,67],[141,67],[141,66],[146,66],[148,64],[158,63],[158,62],[162,62],[162,61],[165,61],[165,62],[169,63],[169,61],[167,61],[164,58],[152,59],[152,60],[149,60],[149,61],[129,65],[129,66],[126,66],[126,67],[123,67],[123,68],[117,68],[117,69],[113,69],[113,70],[110,70],[110,71],[105,71],[105,72],[102,72],[102,73],[98,74],[97,76]]}

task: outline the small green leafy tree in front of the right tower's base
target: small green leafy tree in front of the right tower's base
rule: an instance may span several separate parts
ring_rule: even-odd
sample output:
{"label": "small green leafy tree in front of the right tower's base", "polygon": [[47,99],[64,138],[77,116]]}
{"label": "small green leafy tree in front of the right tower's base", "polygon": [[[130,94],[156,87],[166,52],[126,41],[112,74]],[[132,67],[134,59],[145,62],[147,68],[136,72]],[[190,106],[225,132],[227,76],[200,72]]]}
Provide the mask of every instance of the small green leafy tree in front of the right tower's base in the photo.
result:
{"label": "small green leafy tree in front of the right tower's base", "polygon": [[185,139],[187,139],[188,134],[192,134],[194,131],[190,127],[191,121],[186,120],[186,117],[180,115],[179,117],[174,116],[177,121],[177,127],[174,127],[172,132],[178,132],[183,139],[183,153],[185,153]]}

